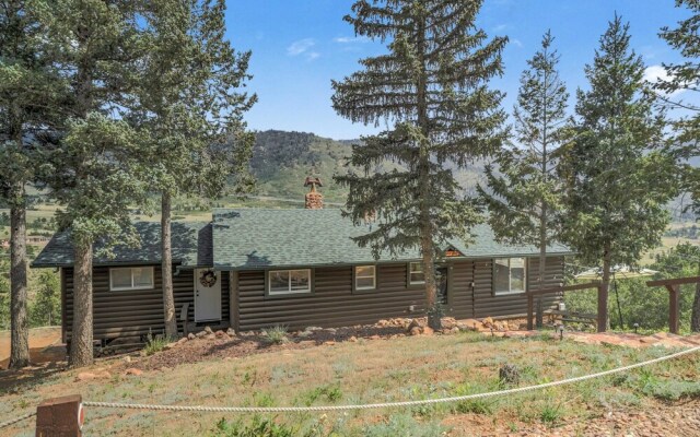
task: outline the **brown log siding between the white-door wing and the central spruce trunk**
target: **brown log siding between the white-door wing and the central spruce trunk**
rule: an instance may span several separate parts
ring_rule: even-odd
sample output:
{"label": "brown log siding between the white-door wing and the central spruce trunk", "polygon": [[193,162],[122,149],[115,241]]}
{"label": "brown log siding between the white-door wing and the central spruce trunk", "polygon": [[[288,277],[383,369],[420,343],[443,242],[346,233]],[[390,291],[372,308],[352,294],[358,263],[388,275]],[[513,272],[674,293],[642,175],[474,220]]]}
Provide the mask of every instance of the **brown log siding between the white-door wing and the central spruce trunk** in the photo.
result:
{"label": "brown log siding between the white-door wing and the central spruce trunk", "polygon": [[291,329],[308,326],[343,327],[407,317],[408,307],[424,307],[422,288],[407,288],[406,264],[377,267],[375,292],[352,293],[352,268],[315,270],[314,293],[265,296],[265,272],[238,275],[238,327],[242,331],[273,324]]}

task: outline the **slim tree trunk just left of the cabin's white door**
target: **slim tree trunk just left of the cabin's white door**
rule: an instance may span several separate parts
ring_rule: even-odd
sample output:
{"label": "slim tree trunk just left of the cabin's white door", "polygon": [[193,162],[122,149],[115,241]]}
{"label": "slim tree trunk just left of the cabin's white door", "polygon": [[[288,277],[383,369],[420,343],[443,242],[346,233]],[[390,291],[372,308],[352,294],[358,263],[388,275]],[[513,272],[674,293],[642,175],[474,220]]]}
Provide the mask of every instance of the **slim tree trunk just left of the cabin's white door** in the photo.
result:
{"label": "slim tree trunk just left of the cabin's white door", "polygon": [[165,336],[177,338],[177,320],[175,319],[175,297],[173,296],[173,250],[171,241],[171,193],[161,193],[161,270],[163,276],[163,316],[165,317]]}

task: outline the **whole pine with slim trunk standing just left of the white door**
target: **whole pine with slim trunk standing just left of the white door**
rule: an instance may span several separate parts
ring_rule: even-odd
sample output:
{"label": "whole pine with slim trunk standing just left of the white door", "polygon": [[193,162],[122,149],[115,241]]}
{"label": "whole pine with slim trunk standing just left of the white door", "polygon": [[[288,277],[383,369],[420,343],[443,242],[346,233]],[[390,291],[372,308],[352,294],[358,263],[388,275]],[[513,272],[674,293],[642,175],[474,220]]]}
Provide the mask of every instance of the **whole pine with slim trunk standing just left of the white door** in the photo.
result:
{"label": "whole pine with slim trunk standing just left of the white door", "polygon": [[173,269],[172,198],[217,197],[232,173],[236,181],[248,180],[254,137],[245,131],[243,114],[256,97],[236,91],[249,79],[250,52],[237,54],[224,39],[223,0],[149,5],[149,56],[135,78],[137,99],[129,116],[147,133],[144,164],[161,193],[165,335],[172,339],[177,321],[173,279],[165,273]]}

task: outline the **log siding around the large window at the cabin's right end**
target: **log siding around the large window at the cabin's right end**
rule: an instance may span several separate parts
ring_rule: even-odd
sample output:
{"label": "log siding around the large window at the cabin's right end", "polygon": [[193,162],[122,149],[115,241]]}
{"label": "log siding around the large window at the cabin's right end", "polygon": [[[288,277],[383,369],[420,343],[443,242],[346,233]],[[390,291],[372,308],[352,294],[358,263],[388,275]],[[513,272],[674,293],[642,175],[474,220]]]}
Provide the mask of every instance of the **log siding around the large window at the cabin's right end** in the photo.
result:
{"label": "log siding around the large window at the cabin's right end", "polygon": [[[537,269],[539,262],[536,258],[528,259],[527,286],[537,288]],[[563,282],[563,257],[549,257],[546,263],[545,286],[556,287]],[[475,262],[475,317],[509,317],[522,316],[527,312],[527,297],[525,294],[493,295],[493,260],[478,260]],[[559,298],[556,295],[545,297],[545,309],[552,308]]]}

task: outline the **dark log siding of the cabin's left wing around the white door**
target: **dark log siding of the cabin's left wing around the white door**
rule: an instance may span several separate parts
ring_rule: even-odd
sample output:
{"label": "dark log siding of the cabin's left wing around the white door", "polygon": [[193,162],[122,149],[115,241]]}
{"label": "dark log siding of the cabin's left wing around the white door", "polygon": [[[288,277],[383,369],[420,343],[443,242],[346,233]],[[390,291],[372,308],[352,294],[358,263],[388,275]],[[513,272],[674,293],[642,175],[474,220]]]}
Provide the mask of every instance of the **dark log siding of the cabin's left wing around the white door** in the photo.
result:
{"label": "dark log siding of the cabin's left wing around the white door", "polygon": [[[109,269],[97,267],[93,271],[93,336],[95,340],[109,340],[118,336],[145,335],[164,331],[163,293],[160,265],[154,267],[154,288],[139,291],[109,291]],[[70,340],[73,323],[73,270],[62,269],[66,290],[65,339]],[[220,273],[221,317],[229,320],[229,274]],[[194,271],[182,270],[173,275],[175,316],[178,328],[180,308],[189,303],[187,319],[195,318]]]}

